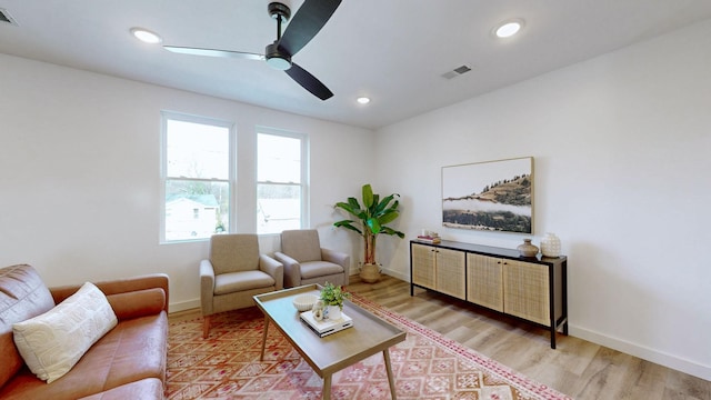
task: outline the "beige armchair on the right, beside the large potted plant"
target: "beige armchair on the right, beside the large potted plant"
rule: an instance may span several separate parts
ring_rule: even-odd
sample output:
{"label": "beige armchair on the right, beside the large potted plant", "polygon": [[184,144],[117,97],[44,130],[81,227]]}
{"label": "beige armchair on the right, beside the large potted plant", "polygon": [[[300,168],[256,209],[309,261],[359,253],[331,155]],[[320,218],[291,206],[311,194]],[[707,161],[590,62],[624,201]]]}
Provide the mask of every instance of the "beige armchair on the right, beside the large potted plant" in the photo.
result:
{"label": "beige armchair on the right, beside the large potted plant", "polygon": [[284,287],[309,283],[348,284],[351,257],[322,249],[316,229],[281,232],[281,251],[274,258],[284,266]]}

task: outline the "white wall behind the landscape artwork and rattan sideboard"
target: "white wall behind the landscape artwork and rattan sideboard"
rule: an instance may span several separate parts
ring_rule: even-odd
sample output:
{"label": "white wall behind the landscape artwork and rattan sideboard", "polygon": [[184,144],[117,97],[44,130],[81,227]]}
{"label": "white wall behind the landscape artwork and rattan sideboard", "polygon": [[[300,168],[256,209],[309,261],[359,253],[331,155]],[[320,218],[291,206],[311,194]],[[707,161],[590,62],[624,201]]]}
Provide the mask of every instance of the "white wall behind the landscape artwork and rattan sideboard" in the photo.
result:
{"label": "white wall behind the landscape artwork and rattan sideboard", "polygon": [[[711,380],[710,66],[707,21],[412,118],[378,132],[375,183],[405,194],[410,238],[515,248],[441,227],[441,167],[534,157],[534,243],[563,242],[571,334]],[[390,248],[409,278],[408,241]]]}

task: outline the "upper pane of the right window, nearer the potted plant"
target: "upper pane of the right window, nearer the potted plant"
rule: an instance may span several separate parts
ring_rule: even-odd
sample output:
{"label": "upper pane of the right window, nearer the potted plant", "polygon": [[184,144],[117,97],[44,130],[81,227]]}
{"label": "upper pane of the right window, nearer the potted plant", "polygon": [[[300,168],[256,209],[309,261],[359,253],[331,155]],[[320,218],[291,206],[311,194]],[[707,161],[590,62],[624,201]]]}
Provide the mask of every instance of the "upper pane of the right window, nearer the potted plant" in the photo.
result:
{"label": "upper pane of the right window, nearer the potted plant", "polygon": [[260,182],[301,183],[301,140],[257,134],[257,180]]}

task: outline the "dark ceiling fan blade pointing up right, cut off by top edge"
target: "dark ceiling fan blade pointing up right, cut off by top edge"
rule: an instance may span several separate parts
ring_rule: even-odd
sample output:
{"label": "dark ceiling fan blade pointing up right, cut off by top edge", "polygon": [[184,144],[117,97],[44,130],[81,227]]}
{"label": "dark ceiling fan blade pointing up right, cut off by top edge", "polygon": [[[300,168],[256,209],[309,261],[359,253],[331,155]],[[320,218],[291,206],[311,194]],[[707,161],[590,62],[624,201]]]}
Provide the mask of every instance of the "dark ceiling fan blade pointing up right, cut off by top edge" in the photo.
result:
{"label": "dark ceiling fan blade pointing up right, cut off by top edge", "polygon": [[289,21],[279,47],[296,54],[319,33],[340,4],[341,0],[306,0]]}

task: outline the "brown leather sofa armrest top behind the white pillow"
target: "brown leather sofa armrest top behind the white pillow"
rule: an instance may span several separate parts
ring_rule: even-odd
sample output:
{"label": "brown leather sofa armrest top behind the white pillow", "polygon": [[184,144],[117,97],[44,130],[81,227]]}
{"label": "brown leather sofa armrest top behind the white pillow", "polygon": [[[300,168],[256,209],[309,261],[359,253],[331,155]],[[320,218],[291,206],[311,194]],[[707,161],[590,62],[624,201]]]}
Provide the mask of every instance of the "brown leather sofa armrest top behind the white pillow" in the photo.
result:
{"label": "brown leather sofa armrest top behind the white pillow", "polygon": [[[162,289],[166,293],[166,303],[163,310],[168,313],[169,306],[169,278],[166,273],[151,273],[124,279],[114,279],[94,283],[107,297],[111,294],[129,293],[133,291],[147,289]],[[56,303],[64,301],[68,297],[74,294],[81,284],[62,286],[49,288]]]}

